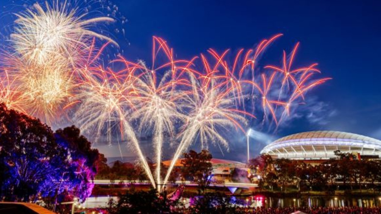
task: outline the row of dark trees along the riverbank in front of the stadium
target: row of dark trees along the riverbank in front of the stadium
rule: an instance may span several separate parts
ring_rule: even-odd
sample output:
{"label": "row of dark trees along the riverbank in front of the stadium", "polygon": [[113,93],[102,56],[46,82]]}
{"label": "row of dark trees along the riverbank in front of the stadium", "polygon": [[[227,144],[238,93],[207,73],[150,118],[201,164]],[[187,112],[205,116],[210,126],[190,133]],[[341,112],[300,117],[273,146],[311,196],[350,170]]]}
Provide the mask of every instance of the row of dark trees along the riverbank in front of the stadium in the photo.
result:
{"label": "row of dark trees along the riverbank in front of the stadium", "polygon": [[[252,182],[261,188],[281,187],[286,191],[287,186],[296,186],[300,191],[305,190],[336,190],[336,182],[341,182],[341,189],[354,187],[362,190],[363,186],[376,190],[381,182],[381,161],[359,160],[352,153],[335,151],[337,158],[320,164],[309,164],[304,161],[277,159],[269,155],[252,159]],[[257,175],[261,179],[253,179]]]}

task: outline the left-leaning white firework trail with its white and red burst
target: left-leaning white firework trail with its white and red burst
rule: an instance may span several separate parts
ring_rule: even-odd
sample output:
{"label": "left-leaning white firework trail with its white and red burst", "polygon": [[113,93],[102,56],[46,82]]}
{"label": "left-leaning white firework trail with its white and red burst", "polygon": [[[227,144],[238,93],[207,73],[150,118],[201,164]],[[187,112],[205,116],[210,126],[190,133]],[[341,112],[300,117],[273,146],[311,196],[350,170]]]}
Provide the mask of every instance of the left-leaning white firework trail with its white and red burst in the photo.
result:
{"label": "left-leaning white firework trail with its white and red burst", "polygon": [[114,134],[120,134],[133,144],[139,160],[148,179],[154,186],[155,180],[150,172],[149,165],[144,157],[133,127],[126,119],[128,112],[134,108],[130,97],[134,93],[133,81],[127,75],[114,73],[99,68],[85,68],[82,72],[82,83],[78,90],[78,110],[75,112],[75,121],[80,128],[99,137],[106,135],[111,143]]}

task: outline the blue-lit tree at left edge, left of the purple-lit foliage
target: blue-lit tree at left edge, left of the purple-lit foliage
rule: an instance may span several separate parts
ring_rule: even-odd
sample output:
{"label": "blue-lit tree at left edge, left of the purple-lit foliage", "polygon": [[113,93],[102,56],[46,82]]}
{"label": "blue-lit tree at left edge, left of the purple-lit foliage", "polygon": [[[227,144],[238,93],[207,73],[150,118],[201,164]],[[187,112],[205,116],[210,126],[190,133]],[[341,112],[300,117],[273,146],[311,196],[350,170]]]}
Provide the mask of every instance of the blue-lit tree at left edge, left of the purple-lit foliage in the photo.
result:
{"label": "blue-lit tree at left edge, left of the purple-lit foliage", "polygon": [[68,166],[67,152],[51,129],[0,104],[1,195],[5,200],[29,201],[41,193],[54,196],[61,172]]}

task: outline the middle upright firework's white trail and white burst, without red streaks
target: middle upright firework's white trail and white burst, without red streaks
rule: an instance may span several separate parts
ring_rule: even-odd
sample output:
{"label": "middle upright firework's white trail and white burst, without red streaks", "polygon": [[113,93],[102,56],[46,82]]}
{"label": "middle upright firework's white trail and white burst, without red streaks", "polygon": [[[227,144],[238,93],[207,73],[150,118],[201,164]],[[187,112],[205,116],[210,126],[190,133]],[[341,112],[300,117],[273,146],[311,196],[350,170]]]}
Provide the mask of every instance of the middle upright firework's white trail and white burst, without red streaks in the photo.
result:
{"label": "middle upright firework's white trail and white burst, without red streaks", "polygon": [[[147,70],[147,69],[145,69]],[[147,70],[148,71],[148,70]],[[162,147],[164,134],[174,136],[175,123],[183,117],[176,107],[176,96],[180,96],[178,92],[171,92],[170,72],[166,72],[156,86],[154,72],[146,72],[142,76],[142,80],[138,83],[138,94],[136,98],[138,104],[136,111],[131,115],[132,118],[139,120],[139,132],[152,128],[154,130],[154,148],[156,156],[156,182],[161,184],[160,179],[160,163],[162,158]],[[169,84],[169,85],[168,85]],[[158,186],[160,190],[160,186]]]}

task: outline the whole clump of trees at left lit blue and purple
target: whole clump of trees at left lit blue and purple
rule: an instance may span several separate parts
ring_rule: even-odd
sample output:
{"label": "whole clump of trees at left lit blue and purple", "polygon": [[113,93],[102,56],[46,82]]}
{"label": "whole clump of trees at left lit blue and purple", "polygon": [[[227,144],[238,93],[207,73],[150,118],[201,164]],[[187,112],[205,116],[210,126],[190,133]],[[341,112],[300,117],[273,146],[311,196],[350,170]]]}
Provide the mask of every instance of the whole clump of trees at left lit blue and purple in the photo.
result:
{"label": "whole clump of trees at left lit blue and purple", "polygon": [[79,129],[54,134],[40,120],[0,104],[0,147],[0,196],[5,200],[37,200],[38,195],[53,202],[61,193],[82,199],[90,194],[99,153]]}

